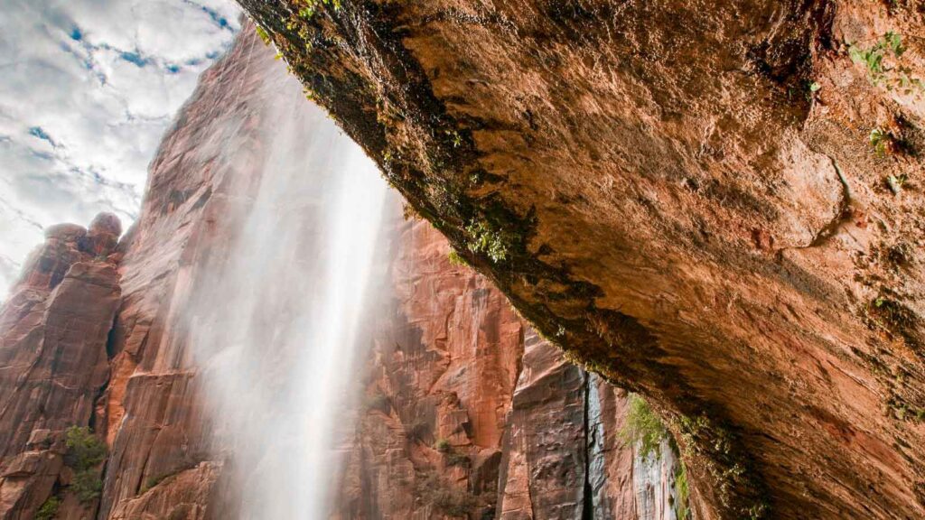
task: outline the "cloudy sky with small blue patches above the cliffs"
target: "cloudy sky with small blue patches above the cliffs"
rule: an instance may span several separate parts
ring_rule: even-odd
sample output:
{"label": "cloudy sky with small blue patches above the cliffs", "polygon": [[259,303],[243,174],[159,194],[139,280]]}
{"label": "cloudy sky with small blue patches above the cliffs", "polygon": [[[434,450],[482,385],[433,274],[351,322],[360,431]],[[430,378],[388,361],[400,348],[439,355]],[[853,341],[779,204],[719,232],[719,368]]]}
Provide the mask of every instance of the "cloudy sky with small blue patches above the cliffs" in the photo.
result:
{"label": "cloudy sky with small blue patches above the cliffs", "polygon": [[0,0],[0,302],[43,228],[137,217],[146,170],[240,29],[231,0]]}

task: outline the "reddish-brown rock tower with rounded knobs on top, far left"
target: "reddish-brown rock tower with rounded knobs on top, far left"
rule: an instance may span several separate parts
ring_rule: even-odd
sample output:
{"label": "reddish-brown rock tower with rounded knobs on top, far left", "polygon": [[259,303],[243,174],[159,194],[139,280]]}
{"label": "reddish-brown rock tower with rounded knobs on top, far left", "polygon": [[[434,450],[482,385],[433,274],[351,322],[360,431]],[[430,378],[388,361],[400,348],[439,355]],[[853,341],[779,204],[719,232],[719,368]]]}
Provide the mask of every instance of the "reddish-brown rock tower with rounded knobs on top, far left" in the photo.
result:
{"label": "reddish-brown rock tower with rounded knobs on top, far left", "polygon": [[[65,431],[93,423],[109,366],[106,337],[118,308],[121,227],[113,215],[90,229],[45,232],[0,310],[0,518],[32,518],[73,477]],[[63,496],[60,518],[92,516],[95,504]]]}

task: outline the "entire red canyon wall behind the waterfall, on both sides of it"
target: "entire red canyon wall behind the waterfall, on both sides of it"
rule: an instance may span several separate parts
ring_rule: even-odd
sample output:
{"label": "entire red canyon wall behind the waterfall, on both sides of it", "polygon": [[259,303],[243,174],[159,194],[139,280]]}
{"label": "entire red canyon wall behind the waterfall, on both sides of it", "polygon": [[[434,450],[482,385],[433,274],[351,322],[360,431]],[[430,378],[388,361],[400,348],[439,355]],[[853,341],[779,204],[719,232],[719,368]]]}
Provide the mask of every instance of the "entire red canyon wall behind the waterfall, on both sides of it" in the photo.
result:
{"label": "entire red canyon wall behind the waterfall, on both sides of it", "polygon": [[[245,28],[166,135],[121,241],[112,216],[47,231],[0,315],[0,518],[236,516],[234,453],[184,311],[253,204],[279,117],[265,106],[283,93],[301,85]],[[625,391],[566,362],[399,209],[393,197],[333,517],[677,518],[672,443],[624,445]],[[94,439],[105,463],[75,463]]]}

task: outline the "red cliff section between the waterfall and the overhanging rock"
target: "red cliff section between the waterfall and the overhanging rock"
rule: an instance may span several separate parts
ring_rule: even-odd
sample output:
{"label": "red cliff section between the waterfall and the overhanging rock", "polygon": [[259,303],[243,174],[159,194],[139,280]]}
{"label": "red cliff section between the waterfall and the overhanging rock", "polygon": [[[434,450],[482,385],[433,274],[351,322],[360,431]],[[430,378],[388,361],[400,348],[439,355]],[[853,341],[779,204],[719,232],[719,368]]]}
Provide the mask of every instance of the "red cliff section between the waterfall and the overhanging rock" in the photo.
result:
{"label": "red cliff section between the waterfall and the overhanging rock", "polygon": [[676,518],[672,448],[623,446],[625,392],[454,266],[428,223],[397,227],[338,517]]}

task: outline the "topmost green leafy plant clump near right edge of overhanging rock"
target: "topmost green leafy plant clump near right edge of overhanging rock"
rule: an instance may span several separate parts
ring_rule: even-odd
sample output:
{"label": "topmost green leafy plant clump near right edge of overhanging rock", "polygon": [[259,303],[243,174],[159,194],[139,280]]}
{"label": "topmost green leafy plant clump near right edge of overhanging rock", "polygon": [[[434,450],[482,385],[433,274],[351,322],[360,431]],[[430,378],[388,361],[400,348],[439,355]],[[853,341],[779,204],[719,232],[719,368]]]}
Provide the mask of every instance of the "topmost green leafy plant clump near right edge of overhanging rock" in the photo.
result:
{"label": "topmost green leafy plant clump near right edge of overhanging rock", "polygon": [[[910,68],[899,63],[906,53],[902,36],[888,31],[870,47],[861,47],[857,43],[848,44],[848,56],[867,68],[868,78],[874,85],[884,85],[887,90],[899,90],[911,94],[914,90],[925,92],[925,83],[913,77]],[[887,60],[894,62],[887,64]]]}

